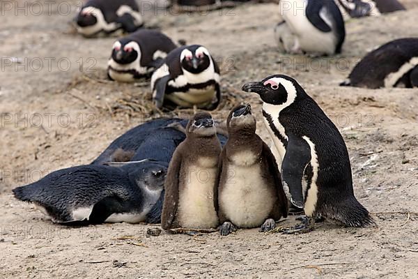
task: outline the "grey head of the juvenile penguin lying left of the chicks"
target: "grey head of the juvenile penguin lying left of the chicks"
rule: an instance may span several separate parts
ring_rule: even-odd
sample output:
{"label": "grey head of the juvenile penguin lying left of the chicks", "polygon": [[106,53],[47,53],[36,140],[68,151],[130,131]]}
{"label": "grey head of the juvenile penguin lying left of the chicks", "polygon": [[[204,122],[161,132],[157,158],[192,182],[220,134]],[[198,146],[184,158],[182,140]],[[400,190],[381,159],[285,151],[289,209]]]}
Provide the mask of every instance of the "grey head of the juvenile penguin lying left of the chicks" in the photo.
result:
{"label": "grey head of the juvenile penguin lying left of the chicks", "polygon": [[147,161],[137,166],[132,175],[137,186],[146,187],[150,191],[162,190],[167,175],[167,165]]}

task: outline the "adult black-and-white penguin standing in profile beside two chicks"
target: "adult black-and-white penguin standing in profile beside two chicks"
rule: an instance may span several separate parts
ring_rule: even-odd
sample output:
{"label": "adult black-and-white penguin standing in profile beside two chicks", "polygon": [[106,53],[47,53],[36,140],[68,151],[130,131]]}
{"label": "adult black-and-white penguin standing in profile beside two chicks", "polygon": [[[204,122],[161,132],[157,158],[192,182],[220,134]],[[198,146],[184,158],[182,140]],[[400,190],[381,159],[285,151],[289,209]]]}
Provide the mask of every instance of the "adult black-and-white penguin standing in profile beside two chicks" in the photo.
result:
{"label": "adult black-and-white penguin standing in profile beside two chicks", "polygon": [[242,90],[263,100],[285,193],[307,215],[302,225],[287,232],[309,232],[316,216],[350,227],[372,224],[369,211],[354,196],[343,137],[302,86],[286,75],[272,75],[244,84]]}

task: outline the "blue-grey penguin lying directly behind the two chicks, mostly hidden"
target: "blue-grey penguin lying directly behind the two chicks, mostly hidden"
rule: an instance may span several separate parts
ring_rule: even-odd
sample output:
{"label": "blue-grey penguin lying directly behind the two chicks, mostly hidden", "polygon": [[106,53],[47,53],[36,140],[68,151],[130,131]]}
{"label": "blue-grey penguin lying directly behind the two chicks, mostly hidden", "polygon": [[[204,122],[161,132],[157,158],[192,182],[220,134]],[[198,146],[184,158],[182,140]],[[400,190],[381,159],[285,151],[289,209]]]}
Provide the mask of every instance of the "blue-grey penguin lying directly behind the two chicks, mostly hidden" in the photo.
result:
{"label": "blue-grey penguin lying directly behind the two chicks, mostly hidden", "polygon": [[[153,119],[126,133],[111,142],[92,164],[103,165],[109,162],[127,162],[153,159],[169,163],[178,144],[185,140],[187,119]],[[180,128],[179,128],[180,126]],[[217,133],[222,145],[227,137]]]}

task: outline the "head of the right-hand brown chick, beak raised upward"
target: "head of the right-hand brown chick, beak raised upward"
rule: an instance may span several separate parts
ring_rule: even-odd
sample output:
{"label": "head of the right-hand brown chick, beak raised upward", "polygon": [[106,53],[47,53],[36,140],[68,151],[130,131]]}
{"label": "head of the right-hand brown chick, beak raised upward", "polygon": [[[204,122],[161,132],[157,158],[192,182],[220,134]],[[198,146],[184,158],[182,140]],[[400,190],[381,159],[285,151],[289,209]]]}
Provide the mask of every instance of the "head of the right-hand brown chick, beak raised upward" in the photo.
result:
{"label": "head of the right-hand brown chick, beak raised upward", "polygon": [[256,133],[256,118],[251,114],[251,105],[237,105],[229,113],[226,121],[229,134],[238,133]]}

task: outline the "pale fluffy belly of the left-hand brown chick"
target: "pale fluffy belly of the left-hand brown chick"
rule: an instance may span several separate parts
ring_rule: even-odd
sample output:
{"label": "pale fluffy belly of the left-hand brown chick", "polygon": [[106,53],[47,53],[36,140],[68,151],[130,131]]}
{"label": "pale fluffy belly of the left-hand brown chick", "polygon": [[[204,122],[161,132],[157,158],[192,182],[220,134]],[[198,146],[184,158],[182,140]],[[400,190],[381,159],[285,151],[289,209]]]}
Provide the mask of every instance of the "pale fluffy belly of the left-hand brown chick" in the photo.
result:
{"label": "pale fluffy belly of the left-hand brown chick", "polygon": [[217,158],[199,158],[185,170],[183,188],[179,189],[178,221],[182,227],[207,228],[218,224],[215,211]]}

